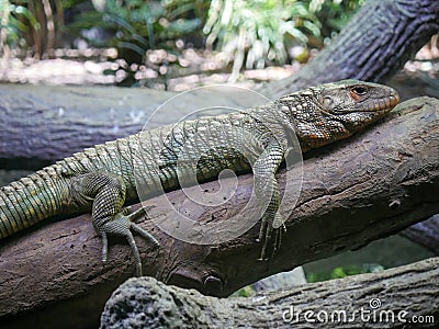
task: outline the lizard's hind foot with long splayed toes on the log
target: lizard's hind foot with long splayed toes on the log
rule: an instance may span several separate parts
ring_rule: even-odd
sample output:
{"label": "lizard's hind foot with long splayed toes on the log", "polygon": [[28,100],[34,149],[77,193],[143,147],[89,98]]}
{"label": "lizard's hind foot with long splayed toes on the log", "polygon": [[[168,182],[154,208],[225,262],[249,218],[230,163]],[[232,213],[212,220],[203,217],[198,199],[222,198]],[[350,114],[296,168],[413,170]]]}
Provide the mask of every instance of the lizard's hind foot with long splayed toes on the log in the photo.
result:
{"label": "lizard's hind foot with long splayed toes on the log", "polygon": [[134,259],[136,262],[136,275],[142,276],[142,259],[132,232],[136,232],[144,239],[148,240],[153,245],[153,248],[158,248],[159,243],[149,232],[147,232],[145,229],[134,223],[145,214],[144,208],[139,208],[138,211],[135,211],[130,215],[128,214],[130,208],[124,208],[114,217],[113,220],[105,223],[100,228],[100,234],[102,237],[102,262],[106,262],[106,235],[124,237],[128,241],[131,249],[133,250]]}

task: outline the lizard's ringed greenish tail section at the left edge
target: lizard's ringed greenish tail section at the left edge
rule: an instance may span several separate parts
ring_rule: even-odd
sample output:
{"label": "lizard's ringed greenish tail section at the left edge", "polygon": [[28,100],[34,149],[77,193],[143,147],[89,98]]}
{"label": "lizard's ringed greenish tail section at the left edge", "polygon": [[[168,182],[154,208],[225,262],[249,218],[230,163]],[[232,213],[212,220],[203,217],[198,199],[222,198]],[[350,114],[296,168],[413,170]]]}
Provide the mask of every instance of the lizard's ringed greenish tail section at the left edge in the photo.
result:
{"label": "lizard's ringed greenish tail section at the left edge", "polygon": [[0,188],[0,239],[59,214],[64,186],[54,168],[47,167]]}

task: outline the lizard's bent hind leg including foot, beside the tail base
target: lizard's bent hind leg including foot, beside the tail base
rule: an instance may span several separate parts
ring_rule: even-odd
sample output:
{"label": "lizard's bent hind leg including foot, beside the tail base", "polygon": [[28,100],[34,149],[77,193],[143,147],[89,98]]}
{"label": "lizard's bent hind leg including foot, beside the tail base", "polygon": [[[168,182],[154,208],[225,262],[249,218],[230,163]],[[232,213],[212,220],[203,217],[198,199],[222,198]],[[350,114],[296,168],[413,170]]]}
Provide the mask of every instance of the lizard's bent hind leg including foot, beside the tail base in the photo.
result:
{"label": "lizard's bent hind leg including foot, beside the tail base", "polygon": [[132,231],[158,247],[158,241],[134,220],[142,216],[143,209],[127,214],[122,208],[126,186],[122,178],[109,172],[92,172],[76,177],[72,181],[74,200],[78,203],[92,202],[92,219],[97,232],[102,238],[102,261],[106,261],[108,235],[127,240],[136,262],[136,275],[142,275],[142,260]]}

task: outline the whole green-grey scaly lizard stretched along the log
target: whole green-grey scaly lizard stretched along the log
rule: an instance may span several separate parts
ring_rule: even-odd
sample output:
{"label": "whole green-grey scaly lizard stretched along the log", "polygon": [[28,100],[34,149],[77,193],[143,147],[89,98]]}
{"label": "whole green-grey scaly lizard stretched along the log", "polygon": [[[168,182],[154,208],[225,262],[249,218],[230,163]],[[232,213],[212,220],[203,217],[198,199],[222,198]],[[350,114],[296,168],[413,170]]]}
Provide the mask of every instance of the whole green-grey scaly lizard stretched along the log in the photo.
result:
{"label": "whole green-grey scaly lizard stretched along the log", "polygon": [[[270,259],[280,248],[283,230],[275,173],[291,147],[291,135],[296,135],[302,152],[318,148],[382,118],[398,101],[393,88],[342,80],[309,87],[266,105],[183,121],[87,148],[0,189],[0,239],[56,215],[91,212],[102,240],[102,261],[106,261],[108,236],[123,237],[134,254],[136,275],[142,275],[133,232],[155,248],[159,243],[135,223],[143,209],[130,214],[124,204],[138,197],[138,178],[147,195],[157,193],[158,184],[164,191],[178,189],[177,164],[189,143],[184,157],[196,161],[199,181],[213,180],[227,168],[252,171],[257,197],[268,200],[258,218],[260,259]],[[252,138],[232,143],[236,132]],[[143,140],[147,148],[139,157]],[[236,145],[243,143],[252,156],[237,150]]]}

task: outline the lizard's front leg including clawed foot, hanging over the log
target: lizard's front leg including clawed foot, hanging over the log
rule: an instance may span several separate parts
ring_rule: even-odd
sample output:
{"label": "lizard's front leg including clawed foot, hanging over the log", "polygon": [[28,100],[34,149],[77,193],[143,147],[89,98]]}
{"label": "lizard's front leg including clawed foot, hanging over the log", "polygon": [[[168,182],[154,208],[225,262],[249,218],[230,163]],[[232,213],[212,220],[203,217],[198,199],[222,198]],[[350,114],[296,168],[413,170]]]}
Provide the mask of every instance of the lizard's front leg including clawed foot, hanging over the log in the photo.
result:
{"label": "lizard's front leg including clawed foot, hanging over the log", "polygon": [[275,172],[283,158],[284,152],[281,145],[273,140],[267,146],[252,167],[256,196],[261,201],[269,202],[262,214],[259,230],[259,241],[263,243],[260,260],[271,258],[281,243],[283,220],[279,213],[280,192]]}

